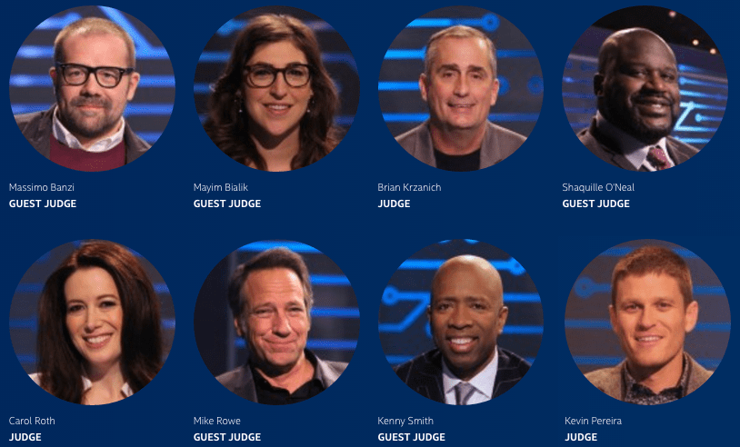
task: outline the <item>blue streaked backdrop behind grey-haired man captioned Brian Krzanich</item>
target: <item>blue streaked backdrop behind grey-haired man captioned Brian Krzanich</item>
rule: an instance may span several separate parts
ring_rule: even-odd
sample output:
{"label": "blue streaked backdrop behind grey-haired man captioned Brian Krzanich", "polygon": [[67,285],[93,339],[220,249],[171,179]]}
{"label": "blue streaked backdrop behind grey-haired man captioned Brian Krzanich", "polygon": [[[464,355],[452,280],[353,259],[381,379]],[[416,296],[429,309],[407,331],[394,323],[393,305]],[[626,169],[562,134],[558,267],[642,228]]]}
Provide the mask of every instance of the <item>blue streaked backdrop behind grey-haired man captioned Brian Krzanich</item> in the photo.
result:
{"label": "blue streaked backdrop behind grey-haired man captioned Brian Krzanich", "polygon": [[397,136],[421,124],[429,110],[419,93],[424,52],[431,35],[452,26],[483,31],[496,47],[498,99],[489,119],[519,134],[532,133],[542,108],[543,78],[526,36],[501,15],[471,6],[437,9],[415,19],[398,34],[380,69],[378,94],[385,124]]}

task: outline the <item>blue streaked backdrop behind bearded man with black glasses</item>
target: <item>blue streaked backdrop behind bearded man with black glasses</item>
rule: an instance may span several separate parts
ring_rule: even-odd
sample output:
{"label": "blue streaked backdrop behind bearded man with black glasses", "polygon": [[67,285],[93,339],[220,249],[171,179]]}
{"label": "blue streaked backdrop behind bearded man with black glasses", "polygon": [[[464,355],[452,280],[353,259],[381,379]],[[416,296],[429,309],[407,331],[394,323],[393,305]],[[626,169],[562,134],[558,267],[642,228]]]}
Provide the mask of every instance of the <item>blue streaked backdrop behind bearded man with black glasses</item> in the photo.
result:
{"label": "blue streaked backdrop behind bearded man with black glasses", "polygon": [[36,26],[15,56],[10,73],[13,114],[48,109],[55,103],[49,68],[54,65],[54,39],[59,31],[84,17],[103,17],[121,25],[136,48],[136,71],[141,81],[125,119],[149,144],[164,132],[175,103],[175,74],[165,47],[145,24],[131,15],[106,6],[80,6],[53,15]]}

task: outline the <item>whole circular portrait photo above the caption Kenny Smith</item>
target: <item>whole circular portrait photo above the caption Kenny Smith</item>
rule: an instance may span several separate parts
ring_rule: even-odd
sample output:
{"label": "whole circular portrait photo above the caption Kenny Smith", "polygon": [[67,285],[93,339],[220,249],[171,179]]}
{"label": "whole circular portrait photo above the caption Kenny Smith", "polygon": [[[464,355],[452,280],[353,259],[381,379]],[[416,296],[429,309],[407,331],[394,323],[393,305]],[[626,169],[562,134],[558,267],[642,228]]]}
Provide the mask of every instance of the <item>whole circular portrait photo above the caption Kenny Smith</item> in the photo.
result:
{"label": "whole circular portrait photo above the caption Kenny Smith", "polygon": [[378,321],[385,358],[427,399],[472,405],[502,395],[535,361],[542,305],[524,267],[472,240],[429,245],[398,267]]}

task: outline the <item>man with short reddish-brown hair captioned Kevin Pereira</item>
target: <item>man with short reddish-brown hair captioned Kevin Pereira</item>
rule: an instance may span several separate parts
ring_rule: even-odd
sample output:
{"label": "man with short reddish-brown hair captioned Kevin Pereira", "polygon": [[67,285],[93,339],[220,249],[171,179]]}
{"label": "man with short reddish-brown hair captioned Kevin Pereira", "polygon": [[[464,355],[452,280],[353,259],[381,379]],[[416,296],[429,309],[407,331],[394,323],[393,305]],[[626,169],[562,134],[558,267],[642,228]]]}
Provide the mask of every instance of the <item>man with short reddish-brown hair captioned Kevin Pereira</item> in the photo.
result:
{"label": "man with short reddish-brown hair captioned Kevin Pereira", "polygon": [[691,272],[678,254],[659,246],[628,253],[612,273],[609,318],[626,359],[585,377],[624,402],[655,405],[695,392],[712,372],[684,351],[699,315]]}

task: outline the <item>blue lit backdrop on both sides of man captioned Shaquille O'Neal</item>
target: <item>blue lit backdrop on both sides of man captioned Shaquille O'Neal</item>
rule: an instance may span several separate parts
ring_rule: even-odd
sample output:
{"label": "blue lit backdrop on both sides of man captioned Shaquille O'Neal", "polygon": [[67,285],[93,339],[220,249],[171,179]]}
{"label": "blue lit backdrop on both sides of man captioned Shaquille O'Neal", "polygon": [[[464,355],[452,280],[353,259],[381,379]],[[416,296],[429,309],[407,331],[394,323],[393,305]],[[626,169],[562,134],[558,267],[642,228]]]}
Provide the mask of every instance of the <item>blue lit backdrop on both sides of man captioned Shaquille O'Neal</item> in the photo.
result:
{"label": "blue lit backdrop on both sides of man captioned Shaquille O'Neal", "polygon": [[[590,27],[568,55],[563,73],[563,104],[576,134],[588,127],[596,114],[594,75],[598,68],[598,50],[612,33],[614,30]],[[672,135],[701,149],[709,143],[725,115],[725,65],[720,55],[679,45],[671,47],[678,63],[681,91],[681,114]]]}

